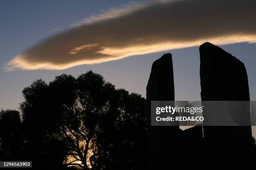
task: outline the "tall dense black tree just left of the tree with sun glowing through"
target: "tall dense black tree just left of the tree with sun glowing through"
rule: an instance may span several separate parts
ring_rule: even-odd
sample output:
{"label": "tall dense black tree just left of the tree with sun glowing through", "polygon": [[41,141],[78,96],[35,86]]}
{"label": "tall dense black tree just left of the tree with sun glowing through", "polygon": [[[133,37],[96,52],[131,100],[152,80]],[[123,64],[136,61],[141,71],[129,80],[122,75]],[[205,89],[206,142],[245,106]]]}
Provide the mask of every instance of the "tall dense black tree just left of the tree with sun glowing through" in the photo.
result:
{"label": "tall dense black tree just left of the tree with sun glowing through", "polygon": [[59,133],[60,115],[54,110],[55,102],[49,85],[36,80],[23,90],[20,105],[24,132],[24,158],[33,161],[33,168],[46,169],[62,166],[67,154],[65,141]]}

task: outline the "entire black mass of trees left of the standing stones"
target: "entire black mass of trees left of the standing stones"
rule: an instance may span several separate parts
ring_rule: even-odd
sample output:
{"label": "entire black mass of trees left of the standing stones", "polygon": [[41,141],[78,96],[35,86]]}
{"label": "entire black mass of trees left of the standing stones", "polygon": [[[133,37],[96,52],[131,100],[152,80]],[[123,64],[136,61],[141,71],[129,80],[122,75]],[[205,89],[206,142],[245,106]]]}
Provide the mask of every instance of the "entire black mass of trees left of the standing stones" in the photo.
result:
{"label": "entire black mass of trees left of the standing stones", "polygon": [[77,78],[62,74],[49,83],[36,80],[24,88],[23,97],[20,114],[1,111],[1,129],[8,129],[0,133],[5,160],[31,160],[39,170],[146,166],[146,100],[141,95],[116,89],[88,71]]}

